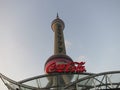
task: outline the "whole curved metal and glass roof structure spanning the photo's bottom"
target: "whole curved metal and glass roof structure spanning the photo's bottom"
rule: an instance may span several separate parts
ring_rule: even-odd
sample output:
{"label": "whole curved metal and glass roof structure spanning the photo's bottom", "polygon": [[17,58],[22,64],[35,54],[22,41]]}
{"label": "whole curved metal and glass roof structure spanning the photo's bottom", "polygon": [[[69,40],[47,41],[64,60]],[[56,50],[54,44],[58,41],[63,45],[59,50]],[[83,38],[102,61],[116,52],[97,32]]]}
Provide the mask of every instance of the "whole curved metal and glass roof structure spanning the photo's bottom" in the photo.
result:
{"label": "whole curved metal and glass roof structure spanning the photo's bottom", "polygon": [[[67,84],[58,81],[72,77]],[[0,74],[1,80],[9,90],[107,90],[120,88],[120,71],[110,71],[98,74],[93,73],[60,73],[45,74],[31,77],[22,81],[14,81]],[[55,84],[49,86],[49,79]]]}

